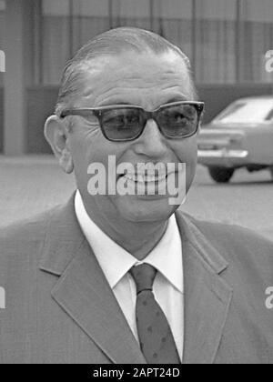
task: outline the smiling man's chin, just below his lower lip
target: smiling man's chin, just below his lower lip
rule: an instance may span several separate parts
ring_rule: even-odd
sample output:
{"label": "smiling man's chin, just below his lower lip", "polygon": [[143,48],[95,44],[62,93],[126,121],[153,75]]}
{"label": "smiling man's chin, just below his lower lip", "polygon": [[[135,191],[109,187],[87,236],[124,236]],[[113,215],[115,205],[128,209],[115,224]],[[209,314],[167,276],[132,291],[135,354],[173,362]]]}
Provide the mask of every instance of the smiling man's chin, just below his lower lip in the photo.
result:
{"label": "smiling man's chin, just below his lower lip", "polygon": [[130,222],[158,222],[166,221],[179,206],[170,206],[168,199],[132,199],[123,196],[116,203],[119,214]]}

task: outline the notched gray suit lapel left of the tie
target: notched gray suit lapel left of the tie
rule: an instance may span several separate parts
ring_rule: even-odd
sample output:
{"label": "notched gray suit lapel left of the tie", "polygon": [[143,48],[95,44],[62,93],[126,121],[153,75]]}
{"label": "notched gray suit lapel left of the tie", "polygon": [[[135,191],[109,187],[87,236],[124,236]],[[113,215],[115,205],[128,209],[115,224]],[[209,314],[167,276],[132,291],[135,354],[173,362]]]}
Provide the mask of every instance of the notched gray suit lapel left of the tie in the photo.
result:
{"label": "notched gray suit lapel left of the tie", "polygon": [[40,264],[42,270],[60,276],[52,297],[112,362],[146,363],[96,256],[77,225],[73,200],[51,222]]}

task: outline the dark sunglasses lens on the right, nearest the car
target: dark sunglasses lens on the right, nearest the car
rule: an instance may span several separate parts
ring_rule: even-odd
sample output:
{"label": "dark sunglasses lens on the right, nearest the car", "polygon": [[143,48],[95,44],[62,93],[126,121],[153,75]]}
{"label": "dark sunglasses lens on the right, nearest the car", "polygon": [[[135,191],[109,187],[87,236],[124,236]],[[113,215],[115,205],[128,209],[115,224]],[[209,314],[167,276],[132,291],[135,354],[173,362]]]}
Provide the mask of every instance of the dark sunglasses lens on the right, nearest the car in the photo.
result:
{"label": "dark sunglasses lens on the right, nearest the car", "polygon": [[158,112],[157,122],[167,137],[192,136],[198,125],[197,108],[187,104],[164,107]]}

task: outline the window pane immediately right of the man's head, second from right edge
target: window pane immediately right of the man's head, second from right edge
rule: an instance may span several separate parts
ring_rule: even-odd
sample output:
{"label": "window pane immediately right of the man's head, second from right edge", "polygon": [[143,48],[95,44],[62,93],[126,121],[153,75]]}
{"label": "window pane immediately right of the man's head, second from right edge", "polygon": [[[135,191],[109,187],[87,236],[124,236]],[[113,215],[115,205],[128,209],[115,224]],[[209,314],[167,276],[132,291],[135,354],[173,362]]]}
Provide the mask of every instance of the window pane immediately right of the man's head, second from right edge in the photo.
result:
{"label": "window pane immediately right of the man's head, second from right edge", "polygon": [[236,0],[195,1],[197,83],[236,82],[236,10]]}

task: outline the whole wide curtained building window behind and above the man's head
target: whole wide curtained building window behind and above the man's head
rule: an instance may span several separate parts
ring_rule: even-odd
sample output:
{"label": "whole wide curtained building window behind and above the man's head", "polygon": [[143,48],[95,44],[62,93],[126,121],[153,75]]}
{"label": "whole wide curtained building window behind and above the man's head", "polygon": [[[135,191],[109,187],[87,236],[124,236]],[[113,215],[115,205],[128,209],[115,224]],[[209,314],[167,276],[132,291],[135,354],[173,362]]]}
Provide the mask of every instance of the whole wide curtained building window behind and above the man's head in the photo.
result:
{"label": "whole wide curtained building window behind and above the man's head", "polygon": [[111,27],[137,26],[178,45],[197,84],[267,83],[272,20],[272,0],[42,0],[35,67],[40,83],[56,85],[67,59],[89,39]]}

